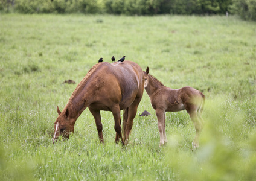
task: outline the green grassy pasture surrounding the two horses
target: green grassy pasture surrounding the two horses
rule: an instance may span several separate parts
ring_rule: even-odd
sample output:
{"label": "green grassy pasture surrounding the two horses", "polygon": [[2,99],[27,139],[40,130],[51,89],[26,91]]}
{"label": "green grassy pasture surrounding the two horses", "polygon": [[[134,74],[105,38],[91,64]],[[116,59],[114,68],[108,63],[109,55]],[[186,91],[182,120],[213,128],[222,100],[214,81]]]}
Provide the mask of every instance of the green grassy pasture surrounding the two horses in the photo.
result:
{"label": "green grassy pasture surrounding the two horses", "polygon": [[[256,24],[222,16],[0,14],[0,178],[2,180],[253,180],[256,177]],[[200,148],[188,114],[167,113],[159,148],[144,92],[129,145],[105,144],[88,109],[68,141],[52,144],[57,106],[103,57],[126,56],[174,89],[206,96]],[[63,84],[65,80],[76,84]],[[152,113],[139,117],[144,110]],[[123,113],[123,112],[122,112]]]}

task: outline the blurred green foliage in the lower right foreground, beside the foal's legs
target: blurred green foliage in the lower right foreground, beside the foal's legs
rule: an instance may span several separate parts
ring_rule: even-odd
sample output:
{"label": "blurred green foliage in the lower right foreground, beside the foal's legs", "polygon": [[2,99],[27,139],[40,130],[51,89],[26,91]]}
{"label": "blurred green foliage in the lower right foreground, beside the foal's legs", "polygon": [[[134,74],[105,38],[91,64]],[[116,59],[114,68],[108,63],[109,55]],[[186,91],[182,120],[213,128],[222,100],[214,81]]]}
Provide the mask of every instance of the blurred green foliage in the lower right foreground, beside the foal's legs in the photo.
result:
{"label": "blurred green foliage in the lower right foreground, beside the foal's legs", "polygon": [[[254,180],[256,178],[256,133],[243,133],[242,111],[229,110],[226,98],[208,100],[203,113],[200,148],[188,153],[179,148],[181,137],[171,135],[165,153],[166,164],[181,180]],[[232,106],[231,104],[229,106]],[[232,115],[223,122],[223,112]],[[226,133],[228,130],[229,133]],[[243,135],[249,139],[242,139]],[[247,144],[246,142],[249,142]],[[247,145],[246,147],[244,147]],[[243,148],[242,148],[243,147]]]}

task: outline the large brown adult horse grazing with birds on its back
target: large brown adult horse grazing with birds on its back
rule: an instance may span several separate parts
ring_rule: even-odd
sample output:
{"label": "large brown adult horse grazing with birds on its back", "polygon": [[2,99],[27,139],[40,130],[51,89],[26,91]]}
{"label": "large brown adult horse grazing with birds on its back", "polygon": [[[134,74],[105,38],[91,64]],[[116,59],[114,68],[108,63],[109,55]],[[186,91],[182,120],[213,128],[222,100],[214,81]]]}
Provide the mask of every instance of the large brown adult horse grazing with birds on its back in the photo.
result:
{"label": "large brown adult horse grazing with birds on its back", "polygon": [[[144,74],[141,67],[130,61],[97,63],[75,88],[66,107],[54,123],[53,142],[63,135],[69,138],[74,132],[77,118],[86,107],[94,116],[98,137],[104,142],[100,110],[111,111],[115,121],[115,142],[127,142],[137,107],[144,91]],[[121,134],[120,110],[124,110],[124,135]]]}

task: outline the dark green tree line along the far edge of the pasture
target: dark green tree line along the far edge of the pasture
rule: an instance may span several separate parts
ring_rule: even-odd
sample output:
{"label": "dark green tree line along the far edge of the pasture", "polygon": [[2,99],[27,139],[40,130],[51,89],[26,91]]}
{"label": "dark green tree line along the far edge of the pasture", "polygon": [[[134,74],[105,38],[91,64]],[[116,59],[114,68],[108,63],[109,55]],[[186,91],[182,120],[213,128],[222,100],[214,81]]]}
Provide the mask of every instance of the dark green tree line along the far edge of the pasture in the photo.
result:
{"label": "dark green tree line along the far edge of the pasture", "polygon": [[84,14],[238,14],[256,20],[256,0],[0,0],[0,11]]}

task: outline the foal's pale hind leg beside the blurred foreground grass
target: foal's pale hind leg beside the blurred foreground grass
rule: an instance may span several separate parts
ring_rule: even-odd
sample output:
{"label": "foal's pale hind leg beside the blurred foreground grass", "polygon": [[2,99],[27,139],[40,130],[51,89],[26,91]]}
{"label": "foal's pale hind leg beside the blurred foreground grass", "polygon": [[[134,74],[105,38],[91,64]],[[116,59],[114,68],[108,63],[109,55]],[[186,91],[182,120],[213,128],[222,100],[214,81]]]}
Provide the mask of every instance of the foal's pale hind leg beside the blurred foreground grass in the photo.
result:
{"label": "foal's pale hind leg beside the blurred foreground grass", "polygon": [[188,112],[190,114],[190,118],[194,123],[194,127],[196,129],[196,136],[194,138],[194,141],[192,142],[192,148],[198,148],[199,147],[199,138],[200,138],[200,132],[202,130],[202,123],[200,122],[200,119],[197,116],[197,110],[193,110]]}

